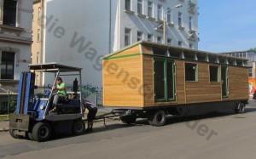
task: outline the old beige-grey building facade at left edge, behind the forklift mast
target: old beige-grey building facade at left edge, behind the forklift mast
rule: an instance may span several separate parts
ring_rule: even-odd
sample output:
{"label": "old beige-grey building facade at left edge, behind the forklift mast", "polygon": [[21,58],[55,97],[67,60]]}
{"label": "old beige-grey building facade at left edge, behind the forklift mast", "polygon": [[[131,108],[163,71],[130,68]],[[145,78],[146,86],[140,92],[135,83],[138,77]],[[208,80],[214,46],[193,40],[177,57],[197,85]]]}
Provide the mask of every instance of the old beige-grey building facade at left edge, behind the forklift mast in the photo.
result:
{"label": "old beige-grey building facade at left edge, behind the forklift mast", "polygon": [[18,92],[31,63],[32,1],[0,0],[0,98]]}

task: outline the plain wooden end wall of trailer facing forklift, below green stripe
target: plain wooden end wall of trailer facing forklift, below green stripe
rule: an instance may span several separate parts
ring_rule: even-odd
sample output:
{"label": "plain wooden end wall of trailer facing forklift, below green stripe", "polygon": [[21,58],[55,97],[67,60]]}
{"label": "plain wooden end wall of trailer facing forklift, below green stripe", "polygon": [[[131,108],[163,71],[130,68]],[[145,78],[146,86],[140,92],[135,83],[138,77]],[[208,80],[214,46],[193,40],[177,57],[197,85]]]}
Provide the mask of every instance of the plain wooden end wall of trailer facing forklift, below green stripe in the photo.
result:
{"label": "plain wooden end wall of trailer facing forklift, below green stripe", "polygon": [[142,107],[141,55],[103,60],[103,105]]}

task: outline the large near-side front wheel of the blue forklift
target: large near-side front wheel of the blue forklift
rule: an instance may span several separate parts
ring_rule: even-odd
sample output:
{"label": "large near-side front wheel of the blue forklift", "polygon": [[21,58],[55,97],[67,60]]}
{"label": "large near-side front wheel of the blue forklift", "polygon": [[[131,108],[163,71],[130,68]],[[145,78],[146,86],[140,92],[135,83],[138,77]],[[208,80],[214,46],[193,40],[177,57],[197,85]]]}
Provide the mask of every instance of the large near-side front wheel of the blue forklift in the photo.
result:
{"label": "large near-side front wheel of the blue forklift", "polygon": [[51,128],[48,123],[38,122],[32,128],[32,139],[35,141],[47,141],[51,136]]}

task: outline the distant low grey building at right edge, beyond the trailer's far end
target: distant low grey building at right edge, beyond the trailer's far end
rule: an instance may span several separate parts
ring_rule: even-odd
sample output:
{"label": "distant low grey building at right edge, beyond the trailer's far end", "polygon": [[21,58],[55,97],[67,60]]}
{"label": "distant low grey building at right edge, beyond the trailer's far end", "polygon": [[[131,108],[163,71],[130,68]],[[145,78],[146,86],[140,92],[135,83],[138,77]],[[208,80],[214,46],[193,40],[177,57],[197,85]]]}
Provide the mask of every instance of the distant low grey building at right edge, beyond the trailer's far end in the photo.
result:
{"label": "distant low grey building at right edge, beyond the trailer's far end", "polygon": [[245,51],[235,51],[222,53],[225,55],[239,57],[248,60],[249,68],[249,90],[250,94],[253,95],[256,90],[256,52],[254,50],[245,50]]}

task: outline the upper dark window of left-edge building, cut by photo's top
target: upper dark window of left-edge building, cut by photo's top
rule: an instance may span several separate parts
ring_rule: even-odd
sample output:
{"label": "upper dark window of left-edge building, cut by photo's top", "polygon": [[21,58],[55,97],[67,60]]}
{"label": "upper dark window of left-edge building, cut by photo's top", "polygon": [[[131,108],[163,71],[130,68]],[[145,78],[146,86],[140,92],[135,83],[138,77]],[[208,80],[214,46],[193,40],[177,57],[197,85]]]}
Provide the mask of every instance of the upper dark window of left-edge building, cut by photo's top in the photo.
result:
{"label": "upper dark window of left-edge building, cut by photo's top", "polygon": [[16,26],[17,1],[3,1],[3,25]]}

